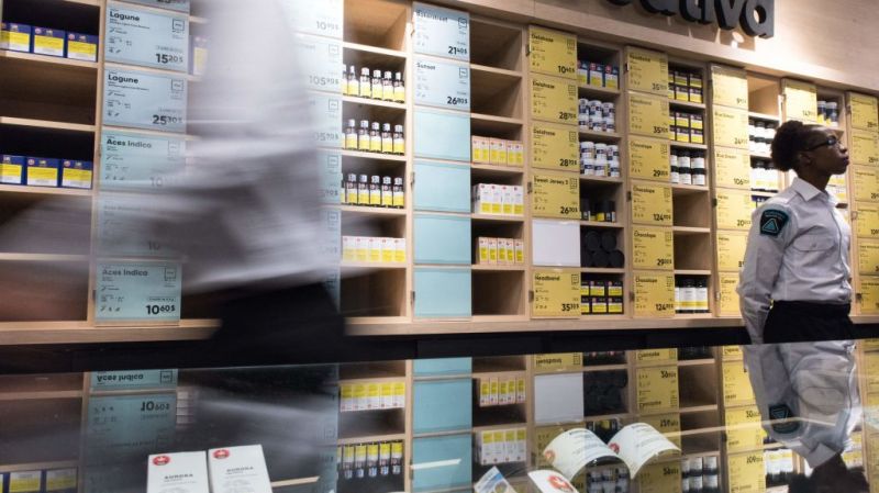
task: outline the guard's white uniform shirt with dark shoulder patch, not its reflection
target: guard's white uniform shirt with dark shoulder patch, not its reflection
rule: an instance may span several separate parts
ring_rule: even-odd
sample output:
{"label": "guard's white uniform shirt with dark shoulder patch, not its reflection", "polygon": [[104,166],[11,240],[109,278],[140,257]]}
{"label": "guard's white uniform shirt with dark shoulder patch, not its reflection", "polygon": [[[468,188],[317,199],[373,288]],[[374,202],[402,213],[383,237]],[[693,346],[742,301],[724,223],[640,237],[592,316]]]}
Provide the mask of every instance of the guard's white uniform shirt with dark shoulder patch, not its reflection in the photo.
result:
{"label": "guard's white uniform shirt with dark shoulder patch, not its reflection", "polygon": [[763,343],[770,300],[850,302],[852,229],[833,197],[797,178],[752,219],[737,291],[753,344]]}

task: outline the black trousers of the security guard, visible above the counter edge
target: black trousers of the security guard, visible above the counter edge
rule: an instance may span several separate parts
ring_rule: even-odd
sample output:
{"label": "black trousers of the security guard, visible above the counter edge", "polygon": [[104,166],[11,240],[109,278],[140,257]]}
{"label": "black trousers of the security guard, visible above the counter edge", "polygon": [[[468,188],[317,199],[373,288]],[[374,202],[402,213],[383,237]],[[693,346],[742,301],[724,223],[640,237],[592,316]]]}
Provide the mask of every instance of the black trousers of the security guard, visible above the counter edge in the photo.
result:
{"label": "black trousers of the security guard, visible above the counter edge", "polygon": [[767,344],[855,338],[849,304],[776,301],[764,327]]}

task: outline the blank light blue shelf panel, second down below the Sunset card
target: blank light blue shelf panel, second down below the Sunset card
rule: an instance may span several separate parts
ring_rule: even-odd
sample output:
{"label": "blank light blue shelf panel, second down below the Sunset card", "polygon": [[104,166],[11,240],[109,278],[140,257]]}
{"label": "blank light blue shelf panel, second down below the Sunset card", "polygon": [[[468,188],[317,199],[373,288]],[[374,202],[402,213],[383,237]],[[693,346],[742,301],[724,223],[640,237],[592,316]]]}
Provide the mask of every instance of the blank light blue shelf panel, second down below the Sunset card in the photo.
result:
{"label": "blank light blue shelf panel, second down below the Sunset card", "polygon": [[415,161],[416,211],[470,212],[470,167]]}

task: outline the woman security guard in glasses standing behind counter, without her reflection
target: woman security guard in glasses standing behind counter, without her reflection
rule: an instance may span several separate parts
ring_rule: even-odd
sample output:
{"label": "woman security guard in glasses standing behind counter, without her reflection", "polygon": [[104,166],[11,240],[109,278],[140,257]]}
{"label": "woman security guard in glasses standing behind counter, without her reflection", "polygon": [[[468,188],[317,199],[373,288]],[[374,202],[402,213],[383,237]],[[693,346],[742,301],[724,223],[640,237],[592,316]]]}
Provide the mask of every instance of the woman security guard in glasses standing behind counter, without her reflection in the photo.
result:
{"label": "woman security guard in glasses standing behind counter, without her reflection", "polygon": [[848,150],[830,128],[791,121],[776,133],[772,160],[798,178],[753,216],[738,284],[750,340],[850,338],[850,228],[824,190],[845,172]]}

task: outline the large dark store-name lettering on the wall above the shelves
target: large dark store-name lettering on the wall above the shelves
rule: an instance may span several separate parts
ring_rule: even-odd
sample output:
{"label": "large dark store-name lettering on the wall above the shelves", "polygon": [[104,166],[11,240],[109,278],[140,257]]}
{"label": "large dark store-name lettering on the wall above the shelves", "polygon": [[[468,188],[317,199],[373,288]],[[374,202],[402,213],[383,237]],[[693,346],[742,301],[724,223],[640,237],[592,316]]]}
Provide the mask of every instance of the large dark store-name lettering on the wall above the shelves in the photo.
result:
{"label": "large dark store-name lettering on the wall above the shelves", "polygon": [[[628,5],[633,0],[608,0]],[[750,36],[775,35],[775,0],[639,0],[652,13],[678,15],[700,24],[717,24],[724,30],[742,27]]]}

